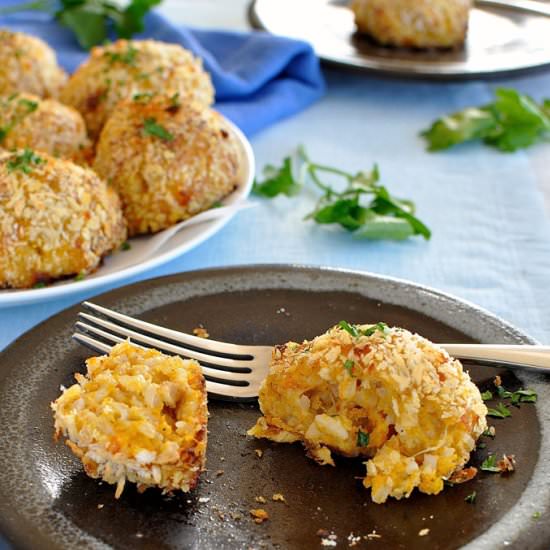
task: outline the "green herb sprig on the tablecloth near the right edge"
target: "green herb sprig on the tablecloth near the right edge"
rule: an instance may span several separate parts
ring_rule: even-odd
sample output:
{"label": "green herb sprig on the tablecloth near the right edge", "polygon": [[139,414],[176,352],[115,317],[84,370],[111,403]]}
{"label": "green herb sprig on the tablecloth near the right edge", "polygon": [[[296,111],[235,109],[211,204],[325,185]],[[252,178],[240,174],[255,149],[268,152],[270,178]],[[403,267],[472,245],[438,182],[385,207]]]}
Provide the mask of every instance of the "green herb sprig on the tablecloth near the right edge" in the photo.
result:
{"label": "green herb sprig on the tablecloth near the right edge", "polygon": [[428,151],[474,140],[503,152],[516,151],[550,138],[550,100],[539,104],[516,90],[499,88],[492,103],[444,116],[421,135]]}

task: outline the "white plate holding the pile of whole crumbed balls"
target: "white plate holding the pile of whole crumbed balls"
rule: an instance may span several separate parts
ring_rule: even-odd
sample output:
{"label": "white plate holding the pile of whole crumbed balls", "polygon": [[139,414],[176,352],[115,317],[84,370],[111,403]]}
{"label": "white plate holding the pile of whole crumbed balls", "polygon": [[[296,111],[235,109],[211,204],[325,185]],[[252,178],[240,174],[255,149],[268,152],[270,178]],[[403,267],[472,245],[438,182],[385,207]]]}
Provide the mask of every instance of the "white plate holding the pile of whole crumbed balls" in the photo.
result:
{"label": "white plate holding the pile of whole crumbed balls", "polygon": [[[255,161],[252,147],[244,134],[227,119],[226,122],[237,137],[242,158],[238,188],[222,201],[224,205],[231,205],[244,201],[250,194],[252,183],[254,181]],[[229,222],[234,215],[235,212],[229,212],[227,215],[214,221],[207,221],[182,229],[148,260],[141,263],[135,264],[132,259],[134,255],[137,256],[139,254],[140,247],[138,242],[151,238],[149,236],[129,239],[128,242],[130,245],[133,243],[136,246],[131,246],[131,248],[127,251],[118,251],[111,254],[105,258],[104,262],[96,272],[86,276],[86,278],[82,281],[69,279],[54,283],[44,288],[0,290],[0,308],[36,302],[46,302],[54,298],[66,297],[78,292],[92,290],[99,286],[115,283],[122,279],[143,273],[148,269],[152,269],[173,260],[177,256],[180,256],[181,254],[206,241],[222,229],[222,227]]]}

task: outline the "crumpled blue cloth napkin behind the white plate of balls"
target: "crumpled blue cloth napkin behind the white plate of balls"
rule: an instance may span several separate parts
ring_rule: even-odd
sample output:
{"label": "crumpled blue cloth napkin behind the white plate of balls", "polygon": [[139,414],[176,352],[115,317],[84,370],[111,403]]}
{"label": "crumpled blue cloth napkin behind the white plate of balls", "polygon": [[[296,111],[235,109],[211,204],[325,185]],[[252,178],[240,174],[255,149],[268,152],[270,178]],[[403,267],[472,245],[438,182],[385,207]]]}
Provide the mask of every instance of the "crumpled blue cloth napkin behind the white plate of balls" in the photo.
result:
{"label": "crumpled blue cloth napkin behind the white plate of balls", "polygon": [[[0,6],[13,4],[0,0]],[[87,56],[48,14],[0,17],[0,27],[41,37],[69,72]],[[201,57],[216,88],[216,109],[248,135],[305,109],[324,92],[319,60],[305,42],[263,32],[177,28],[156,13],[147,16],[146,31],[137,38],[178,43]]]}

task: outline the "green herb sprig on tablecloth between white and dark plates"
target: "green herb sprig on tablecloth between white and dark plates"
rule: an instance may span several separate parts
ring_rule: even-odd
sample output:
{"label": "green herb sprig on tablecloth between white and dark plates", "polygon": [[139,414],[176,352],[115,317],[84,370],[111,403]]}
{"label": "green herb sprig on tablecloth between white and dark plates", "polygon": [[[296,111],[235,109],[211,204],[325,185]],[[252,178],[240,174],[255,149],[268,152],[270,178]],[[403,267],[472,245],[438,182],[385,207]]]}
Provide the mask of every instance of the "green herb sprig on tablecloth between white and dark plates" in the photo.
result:
{"label": "green herb sprig on tablecloth between white and dark plates", "polygon": [[[415,215],[414,203],[393,197],[380,185],[377,166],[370,172],[351,173],[313,162],[303,147],[283,160],[281,167],[264,168],[263,181],[255,181],[253,192],[266,198],[293,197],[307,182],[322,192],[315,209],[306,216],[319,224],[337,224],[363,239],[403,240],[413,235],[431,236],[430,230]],[[339,178],[341,190],[324,181]]]}

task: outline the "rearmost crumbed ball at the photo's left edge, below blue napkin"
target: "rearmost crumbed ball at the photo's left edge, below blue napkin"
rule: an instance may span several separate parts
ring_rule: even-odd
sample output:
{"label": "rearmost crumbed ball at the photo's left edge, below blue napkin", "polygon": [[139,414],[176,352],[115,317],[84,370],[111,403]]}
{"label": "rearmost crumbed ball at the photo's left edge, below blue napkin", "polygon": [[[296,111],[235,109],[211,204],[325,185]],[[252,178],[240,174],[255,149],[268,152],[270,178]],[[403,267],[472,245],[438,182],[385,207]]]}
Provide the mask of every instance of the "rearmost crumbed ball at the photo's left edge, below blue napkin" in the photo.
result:
{"label": "rearmost crumbed ball at the photo's left edge, below blue napkin", "polygon": [[0,29],[0,94],[58,97],[67,75],[54,51],[35,36]]}

